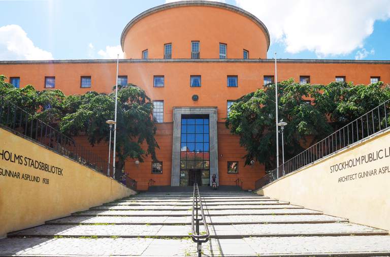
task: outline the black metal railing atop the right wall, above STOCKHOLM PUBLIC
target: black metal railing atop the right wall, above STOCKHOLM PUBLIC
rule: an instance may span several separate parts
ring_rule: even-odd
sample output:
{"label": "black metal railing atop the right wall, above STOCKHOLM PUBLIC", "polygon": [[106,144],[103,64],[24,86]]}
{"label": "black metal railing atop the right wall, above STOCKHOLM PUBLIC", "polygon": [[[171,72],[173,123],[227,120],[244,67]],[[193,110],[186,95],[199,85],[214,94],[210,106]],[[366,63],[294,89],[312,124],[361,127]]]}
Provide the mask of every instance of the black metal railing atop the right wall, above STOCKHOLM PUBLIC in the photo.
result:
{"label": "black metal railing atop the right wall, above STOCKHOLM PUBLIC", "polygon": [[299,170],[353,143],[385,130],[390,126],[389,112],[390,99],[287,160],[276,169],[266,172],[267,174],[264,177],[256,180],[255,188],[261,188],[288,173]]}

